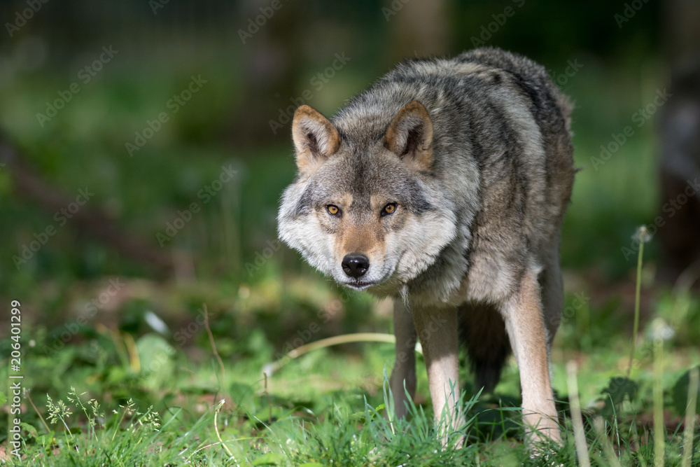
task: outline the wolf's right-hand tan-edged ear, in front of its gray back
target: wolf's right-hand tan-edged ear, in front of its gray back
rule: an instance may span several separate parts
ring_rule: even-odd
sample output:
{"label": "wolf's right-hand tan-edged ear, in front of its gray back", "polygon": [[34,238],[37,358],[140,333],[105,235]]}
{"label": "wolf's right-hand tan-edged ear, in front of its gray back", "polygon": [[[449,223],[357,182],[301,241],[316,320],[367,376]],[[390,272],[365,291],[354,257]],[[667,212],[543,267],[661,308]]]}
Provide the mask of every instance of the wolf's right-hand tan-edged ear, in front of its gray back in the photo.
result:
{"label": "wolf's right-hand tan-edged ear, in front of its gray back", "polygon": [[433,162],[433,123],[418,101],[409,102],[394,117],[384,146],[414,170],[428,170]]}

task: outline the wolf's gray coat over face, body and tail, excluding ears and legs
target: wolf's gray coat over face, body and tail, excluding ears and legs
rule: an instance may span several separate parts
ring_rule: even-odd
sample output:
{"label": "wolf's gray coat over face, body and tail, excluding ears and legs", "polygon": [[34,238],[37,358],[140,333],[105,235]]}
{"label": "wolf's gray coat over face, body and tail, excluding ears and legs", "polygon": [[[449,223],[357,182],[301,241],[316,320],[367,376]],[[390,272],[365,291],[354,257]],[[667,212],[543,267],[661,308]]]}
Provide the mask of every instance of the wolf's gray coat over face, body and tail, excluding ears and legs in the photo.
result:
{"label": "wolf's gray coat over face, body and tail, excluding ears and legs", "polygon": [[[412,101],[433,124],[426,170],[386,149],[390,123]],[[559,235],[575,173],[569,114],[545,69],[521,55],[479,48],[407,60],[332,118],[339,148],[286,189],[279,236],[340,284],[409,309],[458,307],[477,383],[492,387],[508,351],[498,312],[528,272],[541,287],[547,347],[559,326]],[[324,218],[342,195],[352,200],[348,222],[378,223],[370,284],[344,275],[348,252],[334,243],[342,227]],[[381,224],[370,202],[378,195],[405,220]]]}

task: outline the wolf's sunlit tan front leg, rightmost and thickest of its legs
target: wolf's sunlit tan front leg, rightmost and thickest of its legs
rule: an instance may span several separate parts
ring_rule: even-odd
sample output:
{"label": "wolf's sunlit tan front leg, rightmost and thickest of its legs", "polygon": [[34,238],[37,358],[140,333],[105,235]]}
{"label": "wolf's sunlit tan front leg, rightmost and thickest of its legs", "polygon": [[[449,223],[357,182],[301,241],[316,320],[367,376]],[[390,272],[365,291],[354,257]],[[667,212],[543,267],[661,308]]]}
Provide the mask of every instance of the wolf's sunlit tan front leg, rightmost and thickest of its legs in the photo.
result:
{"label": "wolf's sunlit tan front leg, rightmost and thickest of its legs", "polygon": [[559,441],[561,435],[549,382],[547,332],[542,319],[540,288],[533,275],[525,275],[519,291],[503,311],[520,370],[526,438],[528,442],[542,440],[543,436]]}

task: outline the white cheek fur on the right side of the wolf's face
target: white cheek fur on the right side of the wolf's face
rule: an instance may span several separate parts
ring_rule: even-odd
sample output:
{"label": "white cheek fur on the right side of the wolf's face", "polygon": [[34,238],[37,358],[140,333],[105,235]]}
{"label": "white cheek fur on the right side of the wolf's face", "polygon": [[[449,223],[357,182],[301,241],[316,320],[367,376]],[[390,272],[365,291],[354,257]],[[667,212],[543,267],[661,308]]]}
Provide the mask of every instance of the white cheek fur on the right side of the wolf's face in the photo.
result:
{"label": "white cheek fur on the right side of the wolf's face", "polygon": [[[440,251],[456,236],[456,219],[451,212],[430,211],[409,216],[403,228],[392,235],[387,251],[402,251],[395,277],[409,281],[428,269]],[[395,250],[394,250],[395,251]]]}

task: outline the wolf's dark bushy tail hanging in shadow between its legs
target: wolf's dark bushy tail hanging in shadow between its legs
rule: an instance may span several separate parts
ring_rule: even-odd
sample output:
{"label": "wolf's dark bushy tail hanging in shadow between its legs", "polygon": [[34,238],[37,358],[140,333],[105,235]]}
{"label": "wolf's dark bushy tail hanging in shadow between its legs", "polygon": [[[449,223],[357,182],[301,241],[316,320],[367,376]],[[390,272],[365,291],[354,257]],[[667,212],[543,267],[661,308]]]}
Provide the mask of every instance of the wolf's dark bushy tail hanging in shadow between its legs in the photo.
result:
{"label": "wolf's dark bushy tail hanging in shadow between its legs", "polygon": [[505,322],[496,307],[485,303],[459,307],[459,340],[467,348],[477,389],[491,391],[510,354]]}

